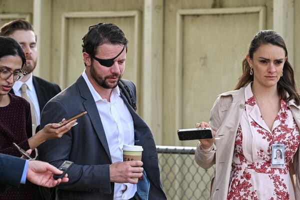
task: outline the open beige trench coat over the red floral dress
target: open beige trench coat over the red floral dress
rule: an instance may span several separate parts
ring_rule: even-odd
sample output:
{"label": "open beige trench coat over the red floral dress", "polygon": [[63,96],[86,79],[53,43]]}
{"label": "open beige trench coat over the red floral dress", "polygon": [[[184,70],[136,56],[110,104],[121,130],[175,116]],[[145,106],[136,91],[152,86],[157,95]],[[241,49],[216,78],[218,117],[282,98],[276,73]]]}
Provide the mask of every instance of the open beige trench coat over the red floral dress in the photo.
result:
{"label": "open beige trench coat over the red floral dress", "polygon": [[[226,200],[227,197],[235,137],[245,103],[244,88],[220,94],[213,104],[209,124],[216,131],[216,137],[220,138],[214,141],[215,150],[205,153],[200,150],[199,142],[197,144],[196,163],[204,169],[215,164],[214,181],[211,189],[212,200]],[[292,101],[289,101],[288,105],[299,128],[300,107]],[[296,154],[300,155],[300,153]],[[298,161],[300,161],[300,157]],[[296,200],[300,200],[299,166],[300,163],[295,170]]]}

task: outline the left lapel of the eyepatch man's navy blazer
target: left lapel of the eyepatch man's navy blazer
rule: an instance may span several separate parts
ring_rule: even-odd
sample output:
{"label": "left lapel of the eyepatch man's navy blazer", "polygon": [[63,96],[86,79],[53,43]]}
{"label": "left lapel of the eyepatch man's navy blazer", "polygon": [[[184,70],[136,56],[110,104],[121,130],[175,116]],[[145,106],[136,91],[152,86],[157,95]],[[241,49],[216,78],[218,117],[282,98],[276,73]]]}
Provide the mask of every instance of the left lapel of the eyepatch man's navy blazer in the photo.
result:
{"label": "left lapel of the eyepatch man's navy blazer", "polygon": [[98,138],[100,139],[100,141],[107,153],[107,156],[109,157],[109,160],[111,162],[110,152],[109,152],[104,128],[102,125],[102,121],[101,121],[99,113],[97,111],[95,111],[95,110],[97,110],[96,103],[95,103],[95,101],[89,91],[89,88],[82,76],[80,76],[76,80],[76,84],[78,86],[81,97],[85,99],[85,101],[83,102],[83,106],[85,107],[85,110],[87,111],[87,114],[92,123],[92,126],[93,126],[94,130],[96,131],[96,134],[97,134]]}

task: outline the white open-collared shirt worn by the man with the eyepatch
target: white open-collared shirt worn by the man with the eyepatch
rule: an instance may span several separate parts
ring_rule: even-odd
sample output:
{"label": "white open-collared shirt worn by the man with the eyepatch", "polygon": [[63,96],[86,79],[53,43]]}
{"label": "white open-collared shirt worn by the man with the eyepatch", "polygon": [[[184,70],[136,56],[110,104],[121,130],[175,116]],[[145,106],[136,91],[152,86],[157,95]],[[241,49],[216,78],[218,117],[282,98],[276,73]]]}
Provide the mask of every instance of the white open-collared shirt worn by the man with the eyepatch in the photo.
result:
{"label": "white open-collared shirt worn by the man with the eyepatch", "polygon": [[[110,102],[96,92],[87,78],[85,70],[82,76],[96,103],[98,113],[104,128],[106,140],[109,147],[112,163],[123,161],[122,147],[123,144],[134,145],[134,127],[132,116],[120,96],[119,87],[112,89]],[[127,189],[124,193],[121,190]],[[136,192],[136,184],[114,183],[113,199],[123,200],[131,198]]]}

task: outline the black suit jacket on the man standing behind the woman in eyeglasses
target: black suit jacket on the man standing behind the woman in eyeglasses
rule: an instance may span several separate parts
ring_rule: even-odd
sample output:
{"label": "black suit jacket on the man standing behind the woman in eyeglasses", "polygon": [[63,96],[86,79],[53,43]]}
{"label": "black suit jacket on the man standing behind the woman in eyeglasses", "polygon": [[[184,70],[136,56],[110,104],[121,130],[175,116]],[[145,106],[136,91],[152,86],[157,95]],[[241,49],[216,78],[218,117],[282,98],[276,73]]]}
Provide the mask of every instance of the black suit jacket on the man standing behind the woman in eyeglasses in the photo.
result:
{"label": "black suit jacket on the man standing behind the woman in eyeglasses", "polygon": [[[34,75],[32,76],[32,83],[37,95],[39,110],[41,112],[48,100],[58,94],[61,89],[58,84],[46,81]],[[14,94],[13,89],[10,89],[9,92]]]}

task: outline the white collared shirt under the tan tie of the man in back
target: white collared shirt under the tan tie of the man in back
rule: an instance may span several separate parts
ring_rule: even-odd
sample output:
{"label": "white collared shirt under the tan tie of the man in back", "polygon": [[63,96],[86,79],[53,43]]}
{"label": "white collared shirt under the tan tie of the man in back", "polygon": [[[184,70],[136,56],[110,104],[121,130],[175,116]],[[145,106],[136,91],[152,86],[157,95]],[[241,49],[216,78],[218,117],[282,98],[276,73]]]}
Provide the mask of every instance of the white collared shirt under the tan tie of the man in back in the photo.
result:
{"label": "white collared shirt under the tan tie of the man in back", "polygon": [[21,95],[21,86],[22,84],[25,83],[27,85],[27,95],[29,96],[31,102],[34,105],[34,110],[35,110],[35,120],[36,120],[36,125],[38,125],[40,123],[40,110],[39,110],[39,104],[38,104],[38,100],[37,100],[37,95],[33,86],[33,82],[32,82],[32,73],[30,73],[30,77],[28,78],[27,81],[22,82],[20,80],[15,81],[12,89],[15,95],[17,96],[22,96]]}

